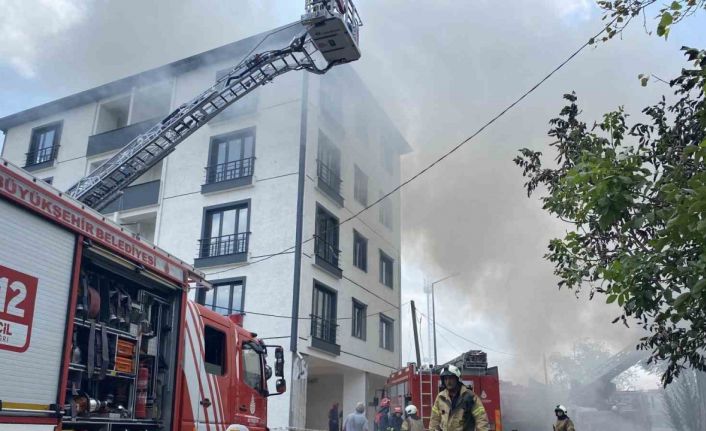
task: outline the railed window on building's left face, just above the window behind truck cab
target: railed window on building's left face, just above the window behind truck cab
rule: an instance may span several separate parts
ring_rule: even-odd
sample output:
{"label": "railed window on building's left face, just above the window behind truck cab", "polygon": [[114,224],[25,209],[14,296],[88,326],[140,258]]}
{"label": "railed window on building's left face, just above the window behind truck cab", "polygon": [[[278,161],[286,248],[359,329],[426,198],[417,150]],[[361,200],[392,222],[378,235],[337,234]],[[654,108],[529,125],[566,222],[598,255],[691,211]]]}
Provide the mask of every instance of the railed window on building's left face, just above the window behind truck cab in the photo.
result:
{"label": "railed window on building's left face, just above the window behind truck cab", "polygon": [[199,257],[247,253],[249,223],[247,203],[207,210]]}

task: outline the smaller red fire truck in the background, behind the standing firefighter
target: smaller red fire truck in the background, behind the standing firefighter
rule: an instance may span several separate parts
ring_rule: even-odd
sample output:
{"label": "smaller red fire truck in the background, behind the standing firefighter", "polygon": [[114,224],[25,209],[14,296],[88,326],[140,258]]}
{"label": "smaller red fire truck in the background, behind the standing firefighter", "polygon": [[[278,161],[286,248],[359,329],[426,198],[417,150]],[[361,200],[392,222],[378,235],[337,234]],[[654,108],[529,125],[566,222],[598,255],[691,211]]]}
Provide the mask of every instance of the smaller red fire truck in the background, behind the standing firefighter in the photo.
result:
{"label": "smaller red fire truck in the background, behind the standing firefighter", "polygon": [[392,408],[399,406],[404,409],[409,404],[417,406],[424,427],[429,429],[431,408],[436,396],[443,390],[439,373],[444,365],[455,365],[461,370],[463,384],[473,390],[485,407],[490,429],[502,431],[498,367],[488,367],[487,355],[480,350],[468,351],[436,367],[409,363],[390,374],[382,396],[390,399]]}

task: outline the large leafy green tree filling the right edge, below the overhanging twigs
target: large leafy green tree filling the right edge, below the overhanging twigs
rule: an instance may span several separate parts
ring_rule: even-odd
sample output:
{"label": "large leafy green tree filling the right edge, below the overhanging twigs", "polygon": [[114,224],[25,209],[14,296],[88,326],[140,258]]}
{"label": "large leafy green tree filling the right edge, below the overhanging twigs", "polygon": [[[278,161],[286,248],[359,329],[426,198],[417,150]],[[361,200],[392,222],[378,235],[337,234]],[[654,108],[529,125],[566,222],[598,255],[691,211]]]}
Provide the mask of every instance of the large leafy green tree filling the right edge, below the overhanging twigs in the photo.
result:
{"label": "large leafy green tree filling the right edge, below the overhanging twigs", "polygon": [[546,190],[543,208],[568,223],[550,241],[559,288],[617,302],[614,323],[636,319],[648,332],[638,347],[665,361],[667,385],[686,366],[706,370],[706,52],[683,48],[694,67],[628,125],[622,108],[589,127],[575,94],[549,136],[556,166],[520,150],[515,163],[528,196]]}

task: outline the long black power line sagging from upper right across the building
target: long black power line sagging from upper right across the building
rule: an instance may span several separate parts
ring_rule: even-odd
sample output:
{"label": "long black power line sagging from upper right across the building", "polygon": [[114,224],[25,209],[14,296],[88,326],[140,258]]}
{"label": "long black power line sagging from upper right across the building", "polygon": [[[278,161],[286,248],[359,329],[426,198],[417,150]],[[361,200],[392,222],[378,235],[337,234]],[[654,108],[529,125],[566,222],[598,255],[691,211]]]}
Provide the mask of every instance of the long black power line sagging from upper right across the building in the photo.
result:
{"label": "long black power line sagging from upper right across the building", "polygon": [[[382,195],[380,198],[378,198],[376,201],[374,201],[374,202],[372,202],[371,204],[367,205],[365,208],[363,208],[363,209],[361,209],[360,211],[354,213],[354,214],[351,215],[350,217],[344,219],[342,222],[340,222],[340,223],[338,224],[338,227],[340,227],[340,226],[343,225],[343,224],[348,223],[348,222],[351,221],[351,220],[354,220],[354,219],[358,218],[359,215],[363,214],[364,212],[366,212],[366,211],[369,210],[370,208],[372,208],[372,207],[378,205],[380,202],[382,202],[383,200],[385,200],[385,199],[388,198],[389,196],[391,196],[391,195],[397,193],[397,192],[398,192],[399,190],[401,190],[403,187],[407,186],[407,185],[410,184],[412,181],[415,181],[417,178],[419,178],[419,177],[421,177],[422,175],[424,175],[425,173],[427,173],[427,172],[428,172],[430,169],[432,169],[434,166],[436,166],[437,164],[439,164],[439,163],[441,163],[442,161],[444,161],[446,158],[448,158],[448,157],[451,156],[453,153],[455,153],[456,151],[458,151],[461,147],[463,147],[463,146],[466,145],[468,142],[470,142],[471,140],[473,140],[476,136],[480,135],[486,128],[488,128],[489,126],[491,126],[493,123],[495,123],[497,120],[499,120],[499,119],[500,119],[501,117],[503,117],[505,114],[507,114],[511,109],[513,109],[515,106],[517,106],[517,104],[519,104],[521,101],[523,101],[527,96],[529,96],[529,95],[532,94],[535,90],[537,90],[537,88],[539,88],[542,84],[544,84],[547,80],[549,80],[549,78],[551,78],[556,72],[558,72],[559,70],[561,70],[562,68],[564,68],[564,66],[566,66],[566,65],[567,65],[571,60],[573,60],[579,53],[581,53],[581,51],[583,51],[583,50],[584,50],[586,47],[588,47],[589,45],[592,45],[592,44],[595,42],[595,40],[596,40],[599,36],[601,36],[603,33],[605,33],[605,32],[607,31],[607,29],[610,27],[610,25],[612,25],[613,23],[616,22],[616,20],[617,20],[617,17],[614,18],[612,21],[609,21],[609,22],[606,24],[606,26],[601,29],[601,31],[599,31],[598,33],[596,33],[593,37],[591,37],[591,38],[590,38],[589,40],[587,40],[583,45],[581,45],[578,49],[576,49],[573,53],[571,53],[571,55],[569,55],[564,61],[562,61],[561,63],[559,63],[558,66],[556,66],[554,69],[552,69],[551,72],[549,72],[549,73],[548,73],[547,75],[545,75],[542,79],[540,79],[540,80],[539,80],[536,84],[534,84],[529,90],[525,91],[525,92],[524,92],[520,97],[518,97],[514,102],[510,103],[505,109],[503,109],[503,110],[500,111],[498,114],[496,114],[494,117],[492,117],[490,120],[488,120],[487,122],[485,122],[478,130],[476,130],[476,131],[475,131],[473,134],[471,134],[468,138],[464,139],[464,140],[461,141],[459,144],[457,144],[457,145],[455,145],[454,147],[452,147],[450,150],[448,150],[448,151],[445,152],[443,155],[441,155],[440,157],[438,157],[437,159],[435,159],[433,162],[431,162],[430,164],[428,164],[426,167],[424,167],[421,171],[417,172],[417,173],[414,174],[412,177],[410,177],[410,178],[408,178],[407,180],[403,181],[403,182],[400,183],[397,187],[395,187],[395,188],[393,188],[392,190],[390,190],[389,192],[385,193],[385,194]],[[319,235],[321,235],[321,233],[319,233]],[[303,244],[306,244],[306,243],[308,243],[308,242],[310,242],[310,241],[313,240],[315,237],[316,237],[316,234],[315,234],[315,235],[312,235],[312,236],[309,237],[309,238],[307,238],[305,241],[302,241],[302,245],[303,245]],[[280,256],[280,255],[282,255],[282,254],[287,254],[290,250],[295,249],[295,248],[296,248],[296,244],[293,245],[293,246],[291,246],[291,247],[288,247],[288,248],[286,248],[286,249],[284,249],[284,250],[282,250],[282,251],[280,251],[280,252],[278,252],[278,253],[270,254],[270,255],[268,255],[267,257],[264,257],[264,258],[262,258],[262,259],[259,259],[259,260],[253,261],[253,262],[248,262],[248,263],[245,263],[245,264],[240,265],[240,266],[237,266],[237,267],[225,269],[225,270],[222,270],[222,271],[213,273],[213,274],[220,274],[220,273],[227,272],[227,271],[230,271],[230,270],[233,270],[233,269],[237,269],[237,268],[242,267],[242,266],[251,266],[251,265],[255,265],[255,264],[257,264],[257,263],[264,262],[264,261],[266,261],[266,260],[268,260],[268,259],[272,259],[273,257]]]}

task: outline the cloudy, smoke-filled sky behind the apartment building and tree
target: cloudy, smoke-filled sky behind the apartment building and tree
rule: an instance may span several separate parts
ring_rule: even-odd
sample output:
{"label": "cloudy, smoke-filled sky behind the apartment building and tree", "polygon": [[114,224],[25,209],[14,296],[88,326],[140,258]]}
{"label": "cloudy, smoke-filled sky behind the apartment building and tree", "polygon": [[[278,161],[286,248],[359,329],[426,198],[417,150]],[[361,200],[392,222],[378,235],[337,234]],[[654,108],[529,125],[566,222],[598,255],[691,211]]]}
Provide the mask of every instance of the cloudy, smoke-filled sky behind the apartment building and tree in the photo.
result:
{"label": "cloudy, smoke-filled sky behind the apartment building and tree", "polygon": [[[352,67],[414,151],[407,178],[530,88],[601,28],[589,0],[358,0],[363,58]],[[298,19],[303,1],[0,0],[0,116],[224,45]],[[648,12],[647,26],[654,28]],[[454,156],[402,191],[402,302],[426,314],[435,286],[439,360],[484,346],[501,377],[543,378],[543,358],[583,339],[617,351],[640,333],[610,322],[615,306],[559,291],[542,256],[567,227],[528,199],[512,159],[548,149],[548,121],[575,91],[592,123],[640,110],[686,65],[682,45],[706,46],[706,13],[669,40],[636,22],[584,50]],[[1,139],[1,138],[0,138]],[[413,360],[409,314],[403,361]],[[448,328],[448,329],[442,329]],[[454,334],[455,333],[455,334]],[[459,335],[461,337],[459,337]],[[469,341],[470,340],[470,341]],[[422,344],[427,341],[422,317]]]}

